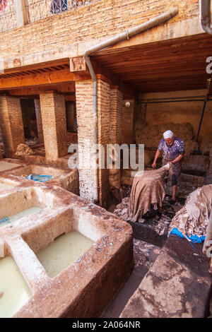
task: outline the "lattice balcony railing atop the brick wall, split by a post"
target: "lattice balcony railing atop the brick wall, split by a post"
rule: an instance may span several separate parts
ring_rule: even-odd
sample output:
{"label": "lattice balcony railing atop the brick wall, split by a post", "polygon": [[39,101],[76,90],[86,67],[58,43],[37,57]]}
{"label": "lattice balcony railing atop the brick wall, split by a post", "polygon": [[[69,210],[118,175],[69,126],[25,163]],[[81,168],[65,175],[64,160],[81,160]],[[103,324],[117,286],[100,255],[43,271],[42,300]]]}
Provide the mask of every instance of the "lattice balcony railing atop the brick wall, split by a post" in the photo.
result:
{"label": "lattice balcony railing atop the brick wall, split by a post", "polygon": [[[0,32],[17,28],[16,0],[0,0]],[[20,0],[19,0],[20,1]],[[71,11],[99,0],[25,0],[28,23]]]}

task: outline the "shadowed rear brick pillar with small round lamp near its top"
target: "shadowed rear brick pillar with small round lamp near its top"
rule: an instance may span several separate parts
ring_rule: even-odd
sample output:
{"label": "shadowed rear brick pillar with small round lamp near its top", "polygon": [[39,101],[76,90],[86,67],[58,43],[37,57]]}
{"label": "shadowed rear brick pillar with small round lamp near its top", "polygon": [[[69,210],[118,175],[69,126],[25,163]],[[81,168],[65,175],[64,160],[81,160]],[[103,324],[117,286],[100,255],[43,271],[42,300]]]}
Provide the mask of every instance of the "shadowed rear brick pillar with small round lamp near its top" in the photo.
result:
{"label": "shadowed rear brick pillar with small round lamp near its top", "polygon": [[[125,107],[125,102],[130,102]],[[132,144],[134,139],[134,100],[123,100],[122,143]]]}

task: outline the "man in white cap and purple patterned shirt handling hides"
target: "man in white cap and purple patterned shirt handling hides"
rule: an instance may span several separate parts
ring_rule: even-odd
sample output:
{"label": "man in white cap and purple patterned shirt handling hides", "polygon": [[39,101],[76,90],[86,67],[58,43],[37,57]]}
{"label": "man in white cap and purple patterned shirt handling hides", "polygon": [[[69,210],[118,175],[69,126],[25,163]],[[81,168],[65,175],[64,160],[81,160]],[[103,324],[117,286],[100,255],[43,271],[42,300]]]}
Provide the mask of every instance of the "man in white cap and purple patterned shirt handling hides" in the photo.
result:
{"label": "man in white cap and purple patterned shirt handling hides", "polygon": [[170,177],[172,182],[172,199],[171,204],[175,204],[176,201],[176,190],[177,190],[177,179],[181,174],[181,160],[184,155],[184,143],[182,139],[174,136],[172,131],[167,130],[163,134],[163,139],[160,141],[158,150],[155,153],[155,159],[152,167],[156,167],[156,161],[160,156],[160,151],[163,150],[163,166],[168,162],[172,162],[172,169],[170,170]]}

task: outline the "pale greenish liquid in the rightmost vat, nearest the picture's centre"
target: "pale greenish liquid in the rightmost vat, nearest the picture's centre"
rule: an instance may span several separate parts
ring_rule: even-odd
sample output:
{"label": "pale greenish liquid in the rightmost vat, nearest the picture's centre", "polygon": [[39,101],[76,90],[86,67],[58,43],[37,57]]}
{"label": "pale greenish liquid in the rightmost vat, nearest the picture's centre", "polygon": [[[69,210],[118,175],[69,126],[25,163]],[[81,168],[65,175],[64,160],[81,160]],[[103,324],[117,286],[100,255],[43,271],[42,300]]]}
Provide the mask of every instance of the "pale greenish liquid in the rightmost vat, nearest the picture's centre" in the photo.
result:
{"label": "pale greenish liquid in the rightmost vat, nearest the picture's centre", "polygon": [[57,237],[52,244],[36,255],[49,277],[54,278],[83,255],[92,244],[93,241],[88,237],[78,232],[70,232]]}

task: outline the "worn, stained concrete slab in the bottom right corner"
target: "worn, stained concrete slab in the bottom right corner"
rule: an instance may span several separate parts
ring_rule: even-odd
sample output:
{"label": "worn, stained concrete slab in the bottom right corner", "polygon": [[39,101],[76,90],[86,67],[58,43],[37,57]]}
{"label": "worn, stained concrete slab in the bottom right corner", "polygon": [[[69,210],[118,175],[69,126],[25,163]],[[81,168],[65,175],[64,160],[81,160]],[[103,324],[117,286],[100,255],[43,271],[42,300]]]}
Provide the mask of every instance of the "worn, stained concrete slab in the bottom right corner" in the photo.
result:
{"label": "worn, stained concrete slab in the bottom right corner", "polygon": [[212,277],[202,247],[169,237],[120,317],[208,316]]}

